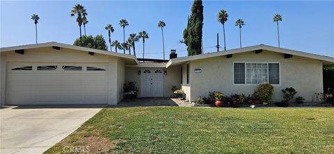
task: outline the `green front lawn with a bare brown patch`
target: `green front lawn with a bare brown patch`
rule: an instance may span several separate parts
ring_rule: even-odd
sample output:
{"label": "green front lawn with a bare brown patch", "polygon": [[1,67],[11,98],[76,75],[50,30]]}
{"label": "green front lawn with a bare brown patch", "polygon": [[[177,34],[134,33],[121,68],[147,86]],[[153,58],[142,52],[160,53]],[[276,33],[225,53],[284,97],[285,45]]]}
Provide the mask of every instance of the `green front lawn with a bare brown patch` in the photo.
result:
{"label": "green front lawn with a bare brown patch", "polygon": [[45,153],[92,136],[110,153],[334,153],[334,108],[106,108]]}

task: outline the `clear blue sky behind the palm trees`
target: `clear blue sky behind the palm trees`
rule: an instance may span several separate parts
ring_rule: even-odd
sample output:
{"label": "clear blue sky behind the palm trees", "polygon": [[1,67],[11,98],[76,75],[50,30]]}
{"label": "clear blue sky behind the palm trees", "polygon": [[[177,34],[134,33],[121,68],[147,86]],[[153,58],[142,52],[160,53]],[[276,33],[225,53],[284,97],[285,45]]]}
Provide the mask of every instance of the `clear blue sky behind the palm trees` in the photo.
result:
{"label": "clear blue sky behind the palm trees", "polygon": [[[161,29],[159,20],[166,22],[164,28],[165,51],[177,49],[179,56],[186,55],[186,46],[180,44],[186,27],[187,16],[193,1],[1,1],[0,46],[16,46],[35,43],[35,25],[31,15],[38,14],[38,42],[61,42],[72,44],[79,37],[79,27],[70,10],[81,3],[88,12],[88,35],[102,34],[112,24],[115,32],[112,40],[122,42],[120,19],[127,19],[125,34],[148,31],[145,40],[145,58],[162,58]],[[227,49],[239,47],[239,28],[234,26],[238,18],[245,21],[242,28],[243,46],[267,44],[277,46],[275,13],[283,17],[280,22],[280,44],[295,49],[334,57],[334,1],[203,1],[204,52],[216,49],[216,33],[223,46],[223,28],[216,16],[221,9],[228,11],[225,24]],[[136,53],[142,56],[142,42],[136,43]]]}

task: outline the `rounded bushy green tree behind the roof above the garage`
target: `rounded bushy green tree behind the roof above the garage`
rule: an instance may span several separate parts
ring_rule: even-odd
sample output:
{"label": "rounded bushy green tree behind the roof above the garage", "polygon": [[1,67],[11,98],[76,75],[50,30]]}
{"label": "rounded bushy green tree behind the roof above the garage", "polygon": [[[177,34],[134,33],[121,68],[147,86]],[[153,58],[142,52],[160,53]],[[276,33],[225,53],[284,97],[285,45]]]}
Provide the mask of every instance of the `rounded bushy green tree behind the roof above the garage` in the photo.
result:
{"label": "rounded bushy green tree behind the roof above the garage", "polygon": [[79,38],[74,40],[73,45],[105,51],[108,50],[108,47],[106,46],[106,41],[104,40],[102,35],[96,35],[95,37],[93,37],[92,35],[84,35],[81,37],[81,40]]}

